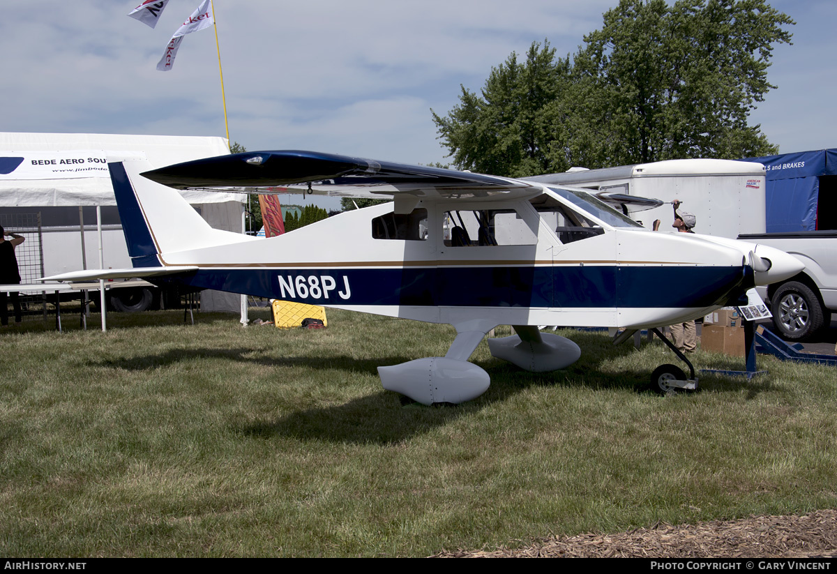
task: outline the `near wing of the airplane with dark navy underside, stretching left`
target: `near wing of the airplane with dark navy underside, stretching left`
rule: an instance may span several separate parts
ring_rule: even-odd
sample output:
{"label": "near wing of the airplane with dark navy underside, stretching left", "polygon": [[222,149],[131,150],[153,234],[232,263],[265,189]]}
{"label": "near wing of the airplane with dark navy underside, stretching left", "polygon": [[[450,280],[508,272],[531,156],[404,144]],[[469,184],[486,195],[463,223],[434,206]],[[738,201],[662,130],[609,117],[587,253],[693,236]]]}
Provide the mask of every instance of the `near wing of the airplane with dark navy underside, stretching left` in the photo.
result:
{"label": "near wing of the airplane with dark navy underside, stretching left", "polygon": [[[208,157],[143,172],[144,177],[175,189],[309,187],[329,195],[374,197],[370,194],[417,196],[506,197],[536,191],[537,183],[480,173],[410,166],[390,161],[337,156],[314,151],[246,151]],[[280,190],[277,192],[282,192]]]}

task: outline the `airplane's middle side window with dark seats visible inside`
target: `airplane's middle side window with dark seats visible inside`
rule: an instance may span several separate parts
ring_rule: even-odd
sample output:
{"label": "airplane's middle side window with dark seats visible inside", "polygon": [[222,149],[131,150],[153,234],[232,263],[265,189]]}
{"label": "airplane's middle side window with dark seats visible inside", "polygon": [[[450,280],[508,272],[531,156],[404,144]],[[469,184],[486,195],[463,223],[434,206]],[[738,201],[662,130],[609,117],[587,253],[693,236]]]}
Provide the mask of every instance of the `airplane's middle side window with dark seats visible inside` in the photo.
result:
{"label": "airplane's middle side window with dark seats visible inside", "polygon": [[537,235],[513,209],[458,209],[444,213],[448,247],[534,245]]}

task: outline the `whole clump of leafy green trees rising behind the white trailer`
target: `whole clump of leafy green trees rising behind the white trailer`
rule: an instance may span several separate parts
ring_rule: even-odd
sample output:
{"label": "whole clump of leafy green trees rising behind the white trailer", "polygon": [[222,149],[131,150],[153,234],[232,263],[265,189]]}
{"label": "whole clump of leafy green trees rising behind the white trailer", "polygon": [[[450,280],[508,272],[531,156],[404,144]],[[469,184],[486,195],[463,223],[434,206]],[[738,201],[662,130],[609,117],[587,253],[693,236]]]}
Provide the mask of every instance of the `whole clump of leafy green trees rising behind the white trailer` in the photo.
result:
{"label": "whole clump of leafy green trees rising behind the white trailer", "polygon": [[[571,166],[777,152],[747,118],[775,86],[787,15],[763,0],[621,0],[570,59],[511,54],[482,97],[462,88],[439,138],[460,169],[521,177]],[[431,110],[432,111],[432,110]]]}

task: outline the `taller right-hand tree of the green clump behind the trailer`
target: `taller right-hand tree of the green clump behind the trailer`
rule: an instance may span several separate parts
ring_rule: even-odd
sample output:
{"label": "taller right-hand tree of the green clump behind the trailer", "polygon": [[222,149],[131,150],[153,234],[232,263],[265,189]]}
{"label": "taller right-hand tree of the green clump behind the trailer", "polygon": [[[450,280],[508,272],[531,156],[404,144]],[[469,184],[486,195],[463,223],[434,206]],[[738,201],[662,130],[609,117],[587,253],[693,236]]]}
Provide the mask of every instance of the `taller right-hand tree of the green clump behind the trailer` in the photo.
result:
{"label": "taller right-hand tree of the green clump behind the trailer", "polygon": [[[778,152],[748,126],[767,80],[773,44],[793,20],[762,0],[621,0],[584,37],[574,65],[588,78],[579,101],[589,131],[610,136],[618,163],[681,157],[738,159]],[[621,152],[617,146],[621,146]],[[613,164],[610,164],[613,165]],[[590,166],[592,167],[592,166]]]}

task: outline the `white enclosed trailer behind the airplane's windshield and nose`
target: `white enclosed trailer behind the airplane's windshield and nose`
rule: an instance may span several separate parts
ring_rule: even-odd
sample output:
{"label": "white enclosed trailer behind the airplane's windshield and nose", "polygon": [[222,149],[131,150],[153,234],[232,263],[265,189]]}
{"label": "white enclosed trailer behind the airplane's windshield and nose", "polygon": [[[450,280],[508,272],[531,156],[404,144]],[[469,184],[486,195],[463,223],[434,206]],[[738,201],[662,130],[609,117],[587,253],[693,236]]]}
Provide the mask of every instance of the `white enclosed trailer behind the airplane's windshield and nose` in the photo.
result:
{"label": "white enclosed trailer behind the airplane's windshield and nose", "polygon": [[[641,207],[626,204],[631,218],[652,228],[673,230],[670,202],[679,199],[681,211],[695,215],[696,233],[737,238],[741,233],[764,233],[765,171],[749,161],[691,159],[655,161],[634,166],[581,169],[526,179],[548,184],[581,187],[606,199],[624,194],[664,202],[637,213]],[[608,202],[619,203],[619,201]]]}

